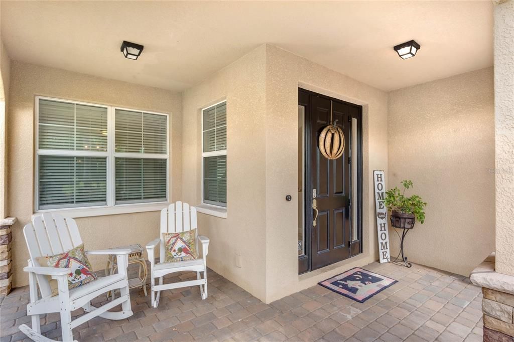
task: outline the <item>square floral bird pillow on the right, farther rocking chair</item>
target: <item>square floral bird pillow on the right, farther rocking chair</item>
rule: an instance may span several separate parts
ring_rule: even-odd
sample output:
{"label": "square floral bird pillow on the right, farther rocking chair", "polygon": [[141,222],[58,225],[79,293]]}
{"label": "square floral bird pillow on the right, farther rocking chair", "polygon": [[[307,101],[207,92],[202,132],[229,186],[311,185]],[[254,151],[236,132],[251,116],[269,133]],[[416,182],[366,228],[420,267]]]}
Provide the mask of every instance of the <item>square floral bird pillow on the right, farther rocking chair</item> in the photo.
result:
{"label": "square floral bird pillow on the right, farther rocking chair", "polygon": [[196,253],[196,228],[181,233],[162,233],[166,246],[166,262],[194,260]]}

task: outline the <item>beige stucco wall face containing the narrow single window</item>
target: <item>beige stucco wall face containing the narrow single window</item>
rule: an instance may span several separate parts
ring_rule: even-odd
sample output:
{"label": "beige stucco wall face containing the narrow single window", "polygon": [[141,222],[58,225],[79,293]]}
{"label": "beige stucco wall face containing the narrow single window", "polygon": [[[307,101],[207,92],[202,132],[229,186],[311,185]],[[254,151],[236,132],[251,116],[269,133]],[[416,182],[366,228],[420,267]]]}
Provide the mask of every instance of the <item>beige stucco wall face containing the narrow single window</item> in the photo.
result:
{"label": "beige stucco wall face containing the narrow single window", "polygon": [[[266,298],[266,49],[261,46],[183,92],[182,198],[201,203],[201,109],[227,100],[227,218],[198,214],[208,267]],[[241,267],[236,266],[241,258]]]}

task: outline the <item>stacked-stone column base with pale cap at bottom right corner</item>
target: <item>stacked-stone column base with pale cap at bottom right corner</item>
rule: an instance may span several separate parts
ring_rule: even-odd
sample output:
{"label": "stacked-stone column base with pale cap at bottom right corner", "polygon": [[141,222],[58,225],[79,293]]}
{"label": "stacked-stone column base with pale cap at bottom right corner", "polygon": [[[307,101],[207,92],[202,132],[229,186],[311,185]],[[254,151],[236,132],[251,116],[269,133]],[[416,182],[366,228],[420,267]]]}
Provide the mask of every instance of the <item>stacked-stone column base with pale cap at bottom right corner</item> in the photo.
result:
{"label": "stacked-stone column base with pale cap at bottom right corner", "polygon": [[514,277],[495,272],[494,263],[492,253],[469,277],[484,295],[484,341],[514,342]]}

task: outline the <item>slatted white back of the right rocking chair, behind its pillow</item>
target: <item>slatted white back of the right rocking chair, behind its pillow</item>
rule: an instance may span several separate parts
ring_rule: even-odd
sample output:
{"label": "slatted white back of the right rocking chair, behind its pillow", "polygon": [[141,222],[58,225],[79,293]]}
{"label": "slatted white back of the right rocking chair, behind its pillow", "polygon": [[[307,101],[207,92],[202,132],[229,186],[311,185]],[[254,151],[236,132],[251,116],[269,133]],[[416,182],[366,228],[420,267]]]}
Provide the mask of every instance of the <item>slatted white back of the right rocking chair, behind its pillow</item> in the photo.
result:
{"label": "slatted white back of the right rocking chair, behind its pillow", "polygon": [[[198,228],[198,222],[196,220],[196,208],[194,206],[177,201],[161,210],[160,262],[164,262],[164,259],[166,259],[162,233],[187,232],[195,228]],[[198,231],[196,231],[196,245],[198,246]]]}

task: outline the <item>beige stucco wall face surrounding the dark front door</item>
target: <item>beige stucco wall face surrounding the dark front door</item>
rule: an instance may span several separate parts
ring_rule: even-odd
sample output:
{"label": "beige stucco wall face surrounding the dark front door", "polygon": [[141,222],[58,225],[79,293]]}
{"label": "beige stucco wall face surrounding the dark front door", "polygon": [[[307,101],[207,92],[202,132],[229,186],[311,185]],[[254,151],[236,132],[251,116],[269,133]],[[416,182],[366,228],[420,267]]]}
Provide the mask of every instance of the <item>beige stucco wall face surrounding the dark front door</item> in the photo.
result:
{"label": "beige stucco wall face surrounding the dark front door", "polygon": [[[266,300],[378,259],[373,170],[388,170],[387,93],[266,46]],[[298,276],[298,88],[363,106],[363,253]],[[290,194],[292,200],[286,202]]]}

